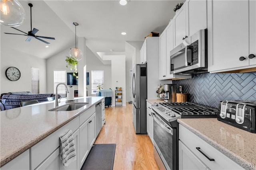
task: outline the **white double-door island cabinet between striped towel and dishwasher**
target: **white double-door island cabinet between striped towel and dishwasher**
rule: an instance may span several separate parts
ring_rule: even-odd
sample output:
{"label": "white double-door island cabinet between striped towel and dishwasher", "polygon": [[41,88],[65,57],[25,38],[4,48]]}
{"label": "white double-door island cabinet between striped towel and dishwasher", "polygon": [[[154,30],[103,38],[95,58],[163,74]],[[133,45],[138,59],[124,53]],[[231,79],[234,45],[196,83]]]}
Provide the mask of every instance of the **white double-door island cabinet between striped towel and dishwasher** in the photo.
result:
{"label": "white double-door island cabinet between striped towel and dishwasher", "polygon": [[89,154],[90,149],[95,141],[96,126],[95,126],[95,113],[92,114],[80,127],[80,167]]}

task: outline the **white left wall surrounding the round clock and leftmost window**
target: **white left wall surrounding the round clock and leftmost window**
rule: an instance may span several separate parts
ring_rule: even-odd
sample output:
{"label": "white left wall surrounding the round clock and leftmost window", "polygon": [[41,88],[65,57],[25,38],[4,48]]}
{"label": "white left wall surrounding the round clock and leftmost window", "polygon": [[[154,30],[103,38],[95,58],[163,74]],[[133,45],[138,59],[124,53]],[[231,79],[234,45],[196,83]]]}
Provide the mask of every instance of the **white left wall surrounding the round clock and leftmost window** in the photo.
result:
{"label": "white left wall surrounding the round clock and leftmost window", "polygon": [[[15,48],[15,47],[14,47]],[[0,93],[20,92],[32,90],[31,85],[31,67],[39,68],[39,92],[47,93],[46,90],[46,60],[32,56],[20,51],[16,51],[10,47],[5,47],[1,43],[1,89]],[[14,66],[20,70],[20,79],[17,81],[10,81],[5,76],[5,70]]]}

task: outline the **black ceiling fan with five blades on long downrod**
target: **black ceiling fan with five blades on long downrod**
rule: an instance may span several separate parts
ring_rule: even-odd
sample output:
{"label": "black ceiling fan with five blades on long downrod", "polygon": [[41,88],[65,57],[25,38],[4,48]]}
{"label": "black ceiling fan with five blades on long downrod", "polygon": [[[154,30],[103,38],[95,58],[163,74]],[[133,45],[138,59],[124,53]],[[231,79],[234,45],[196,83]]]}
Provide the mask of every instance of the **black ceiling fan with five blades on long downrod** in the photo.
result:
{"label": "black ceiling fan with five blades on long downrod", "polygon": [[[40,38],[46,38],[46,39],[55,39],[55,38],[35,35],[37,33],[37,31],[39,31],[39,30],[36,29],[36,28],[33,28],[33,30],[32,30],[32,12],[31,12],[31,8],[32,8],[33,5],[29,3],[28,6],[30,6],[30,31],[28,31],[28,33],[25,33],[24,31],[21,31],[21,30],[15,28],[15,27],[11,27],[11,28],[16,29],[16,30],[18,30],[22,33],[25,33],[26,36],[28,36],[26,41],[30,41],[32,38],[35,38],[35,39],[38,39],[38,40],[40,40],[40,41],[42,41],[46,44],[50,44],[49,42],[44,41],[43,39],[40,39]],[[25,34],[16,34],[16,33],[6,33],[6,34],[25,35]]]}

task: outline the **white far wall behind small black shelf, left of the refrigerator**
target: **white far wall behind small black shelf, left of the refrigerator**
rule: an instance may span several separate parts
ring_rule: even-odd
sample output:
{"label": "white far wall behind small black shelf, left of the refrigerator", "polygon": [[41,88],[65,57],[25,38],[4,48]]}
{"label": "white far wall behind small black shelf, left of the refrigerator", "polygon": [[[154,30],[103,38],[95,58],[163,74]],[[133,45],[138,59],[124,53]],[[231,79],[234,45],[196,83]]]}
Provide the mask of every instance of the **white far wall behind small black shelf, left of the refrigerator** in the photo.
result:
{"label": "white far wall behind small black shelf, left of the refrigerator", "polygon": [[125,55],[106,55],[103,60],[111,60],[111,78],[112,78],[112,105],[115,105],[114,90],[116,87],[122,87],[122,105],[126,106],[126,63]]}

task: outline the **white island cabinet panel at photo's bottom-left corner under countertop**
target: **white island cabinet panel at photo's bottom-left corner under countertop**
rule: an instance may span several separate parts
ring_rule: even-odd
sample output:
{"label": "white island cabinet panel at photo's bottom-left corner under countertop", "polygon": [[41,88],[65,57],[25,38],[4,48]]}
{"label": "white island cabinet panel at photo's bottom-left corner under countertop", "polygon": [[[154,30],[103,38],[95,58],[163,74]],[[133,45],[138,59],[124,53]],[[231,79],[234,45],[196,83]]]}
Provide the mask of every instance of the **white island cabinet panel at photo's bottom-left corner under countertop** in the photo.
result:
{"label": "white island cabinet panel at photo's bottom-left corner under countertop", "polygon": [[29,149],[1,167],[1,170],[28,170],[28,169],[29,169]]}

